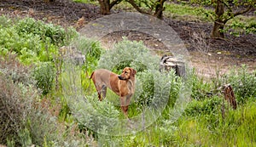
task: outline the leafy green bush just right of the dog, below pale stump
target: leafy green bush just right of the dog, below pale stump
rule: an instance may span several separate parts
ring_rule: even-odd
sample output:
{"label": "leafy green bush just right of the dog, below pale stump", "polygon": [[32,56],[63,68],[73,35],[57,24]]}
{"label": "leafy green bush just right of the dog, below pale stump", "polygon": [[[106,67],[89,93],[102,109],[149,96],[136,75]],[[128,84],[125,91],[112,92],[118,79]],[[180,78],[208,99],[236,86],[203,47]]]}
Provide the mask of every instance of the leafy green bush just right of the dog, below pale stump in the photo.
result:
{"label": "leafy green bush just right of the dog, below pale stump", "polygon": [[138,72],[137,90],[134,96],[136,105],[149,105],[168,98],[166,103],[172,107],[180,94],[182,85],[181,78],[177,77],[174,71],[168,74],[160,71]]}

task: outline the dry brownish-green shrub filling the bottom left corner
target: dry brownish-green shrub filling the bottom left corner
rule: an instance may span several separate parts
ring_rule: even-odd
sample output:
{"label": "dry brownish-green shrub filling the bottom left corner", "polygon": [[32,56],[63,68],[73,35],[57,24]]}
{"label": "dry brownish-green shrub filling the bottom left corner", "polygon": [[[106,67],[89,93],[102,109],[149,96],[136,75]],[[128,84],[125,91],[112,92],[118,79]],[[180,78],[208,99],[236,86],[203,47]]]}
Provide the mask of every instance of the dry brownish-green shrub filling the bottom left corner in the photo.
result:
{"label": "dry brownish-green shrub filling the bottom left corner", "polygon": [[[0,142],[8,146],[82,146],[84,135],[68,130],[40,103],[32,85],[12,82],[0,74]],[[79,138],[78,138],[79,136]]]}

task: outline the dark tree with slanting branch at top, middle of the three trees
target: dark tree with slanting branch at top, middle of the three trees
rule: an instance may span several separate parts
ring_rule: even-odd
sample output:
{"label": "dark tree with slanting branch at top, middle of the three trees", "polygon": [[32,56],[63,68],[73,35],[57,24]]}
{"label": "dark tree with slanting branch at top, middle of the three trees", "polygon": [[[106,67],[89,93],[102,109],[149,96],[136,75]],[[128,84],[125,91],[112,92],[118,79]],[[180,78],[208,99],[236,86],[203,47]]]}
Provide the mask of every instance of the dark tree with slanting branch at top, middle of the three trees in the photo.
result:
{"label": "dark tree with slanting branch at top, middle of the three trees", "polygon": [[163,18],[166,0],[126,0],[132,7],[142,14],[150,14],[159,19]]}

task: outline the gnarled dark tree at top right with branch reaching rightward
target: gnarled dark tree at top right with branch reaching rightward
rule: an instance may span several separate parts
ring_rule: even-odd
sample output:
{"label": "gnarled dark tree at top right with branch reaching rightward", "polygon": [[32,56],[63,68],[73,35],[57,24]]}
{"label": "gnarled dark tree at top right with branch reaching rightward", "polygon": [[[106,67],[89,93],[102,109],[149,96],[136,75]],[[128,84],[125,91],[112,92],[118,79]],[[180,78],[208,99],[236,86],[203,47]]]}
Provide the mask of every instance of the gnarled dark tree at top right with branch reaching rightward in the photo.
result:
{"label": "gnarled dark tree at top right with branch reaching rightward", "polygon": [[210,15],[214,21],[211,37],[224,38],[225,24],[237,15],[253,10],[256,5],[255,2],[255,0],[212,0],[211,5],[215,8],[215,11],[214,14]]}

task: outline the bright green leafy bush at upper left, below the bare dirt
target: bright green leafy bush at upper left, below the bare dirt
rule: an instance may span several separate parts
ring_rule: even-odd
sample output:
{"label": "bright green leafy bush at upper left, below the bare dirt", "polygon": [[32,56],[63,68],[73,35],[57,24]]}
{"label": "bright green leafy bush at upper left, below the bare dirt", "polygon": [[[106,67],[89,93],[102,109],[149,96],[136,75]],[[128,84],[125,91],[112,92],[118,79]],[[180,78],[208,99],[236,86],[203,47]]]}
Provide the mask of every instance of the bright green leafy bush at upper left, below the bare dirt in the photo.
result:
{"label": "bright green leafy bush at upper left, below the bare dirt", "polygon": [[38,61],[52,61],[57,48],[78,37],[72,28],[66,30],[58,25],[45,24],[43,21],[26,18],[9,20],[4,17],[0,21],[13,22],[13,25],[0,26],[0,54],[15,52],[25,64]]}

